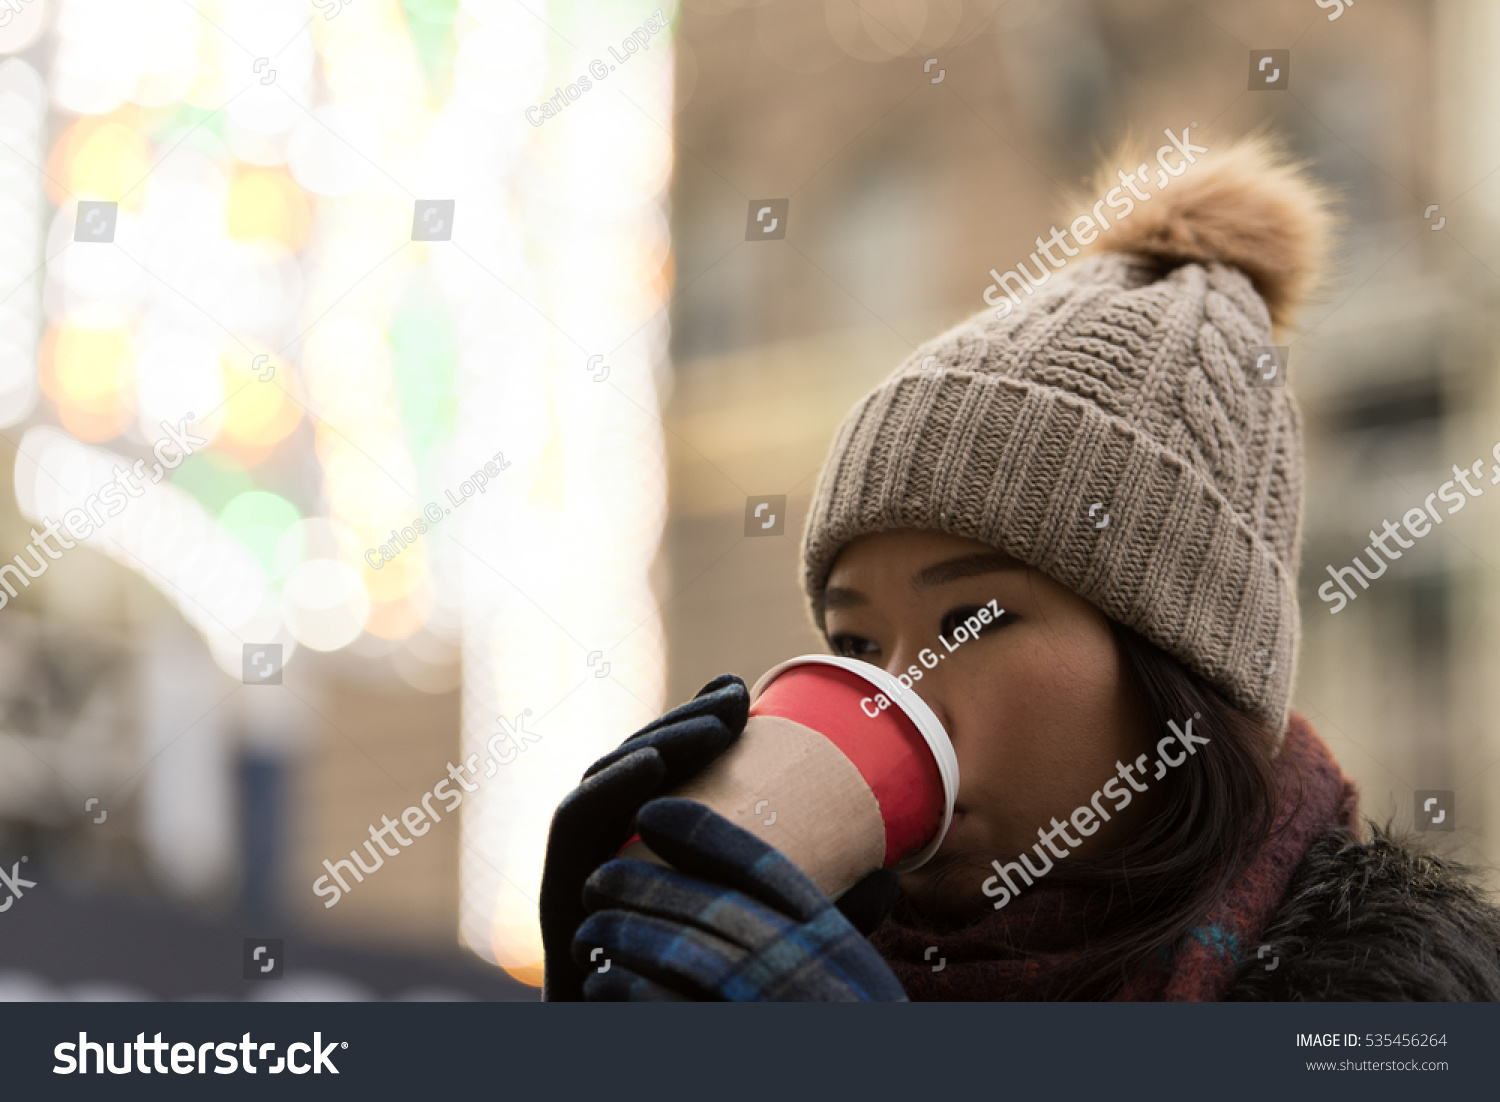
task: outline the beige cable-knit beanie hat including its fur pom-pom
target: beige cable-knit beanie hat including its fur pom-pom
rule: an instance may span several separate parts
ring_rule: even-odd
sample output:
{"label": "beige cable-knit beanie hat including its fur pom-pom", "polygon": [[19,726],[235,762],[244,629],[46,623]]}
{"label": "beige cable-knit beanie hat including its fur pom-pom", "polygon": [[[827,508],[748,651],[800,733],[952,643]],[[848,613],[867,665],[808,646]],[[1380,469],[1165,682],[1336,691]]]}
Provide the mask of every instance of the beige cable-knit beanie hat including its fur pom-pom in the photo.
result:
{"label": "beige cable-knit beanie hat including its fur pom-pom", "polygon": [[[1263,138],[1188,150],[1162,147],[1178,175],[1155,190],[1144,163],[1130,192],[1124,171],[1101,175],[1092,252],[1044,249],[1062,270],[1032,253],[1024,283],[992,273],[999,309],[918,348],[849,412],[802,537],[820,631],[844,544],[938,529],[1048,574],[1282,732],[1302,432],[1274,346],[1320,273],[1329,202]],[[1089,222],[1071,223],[1077,241]]]}

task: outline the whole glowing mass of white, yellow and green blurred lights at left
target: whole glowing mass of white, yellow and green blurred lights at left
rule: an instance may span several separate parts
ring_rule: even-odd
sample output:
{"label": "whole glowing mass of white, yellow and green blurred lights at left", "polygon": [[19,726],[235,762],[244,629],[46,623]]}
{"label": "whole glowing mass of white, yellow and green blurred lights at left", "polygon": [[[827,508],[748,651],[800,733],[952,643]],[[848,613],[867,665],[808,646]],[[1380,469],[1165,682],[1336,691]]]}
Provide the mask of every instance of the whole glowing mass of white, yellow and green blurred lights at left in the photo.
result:
{"label": "whole glowing mass of white, yellow and green blurred lights at left", "polygon": [[[0,304],[40,331],[38,346],[0,333],[0,420],[42,402],[56,421],[24,438],[22,511],[56,514],[189,432],[194,454],[94,546],[160,589],[225,672],[246,642],[388,654],[423,693],[462,670],[465,753],[525,709],[570,730],[464,810],[460,940],[540,982],[546,819],[663,693],[648,571],[666,489],[670,30],[618,93],[537,130],[525,106],[590,60],[556,30],[582,42],[598,10],[210,7],[63,0],[46,88],[0,69],[0,129],[36,153],[0,150],[4,201],[45,228],[0,234],[0,268],[20,283],[46,258],[40,294]],[[412,240],[428,198],[454,201],[450,241]],[[74,240],[86,201],[118,204],[112,241]],[[582,370],[591,352],[610,357],[608,387]],[[504,469],[480,492],[486,463]],[[585,552],[600,532],[603,562]],[[393,538],[398,555],[368,555]],[[579,639],[627,642],[615,682],[568,699]]]}

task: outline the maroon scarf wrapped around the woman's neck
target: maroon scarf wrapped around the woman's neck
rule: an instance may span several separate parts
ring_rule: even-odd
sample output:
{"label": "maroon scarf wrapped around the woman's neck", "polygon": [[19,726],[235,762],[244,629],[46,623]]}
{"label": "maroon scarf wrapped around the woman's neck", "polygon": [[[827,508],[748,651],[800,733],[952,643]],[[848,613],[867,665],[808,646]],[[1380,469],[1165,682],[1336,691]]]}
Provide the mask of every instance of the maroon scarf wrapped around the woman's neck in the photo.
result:
{"label": "maroon scarf wrapped around the woman's neck", "polygon": [[[1359,793],[1293,712],[1275,762],[1276,823],[1176,954],[1130,976],[1118,1000],[1220,1000],[1256,955],[1308,847],[1329,828],[1358,831]],[[1038,883],[972,927],[936,933],[886,919],[870,937],[914,1000],[1036,1000],[1070,979],[1086,939],[1086,888]],[[1011,946],[1020,946],[1020,954]],[[934,970],[936,969],[936,970]]]}

